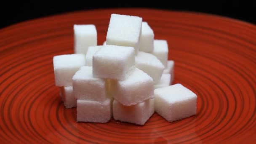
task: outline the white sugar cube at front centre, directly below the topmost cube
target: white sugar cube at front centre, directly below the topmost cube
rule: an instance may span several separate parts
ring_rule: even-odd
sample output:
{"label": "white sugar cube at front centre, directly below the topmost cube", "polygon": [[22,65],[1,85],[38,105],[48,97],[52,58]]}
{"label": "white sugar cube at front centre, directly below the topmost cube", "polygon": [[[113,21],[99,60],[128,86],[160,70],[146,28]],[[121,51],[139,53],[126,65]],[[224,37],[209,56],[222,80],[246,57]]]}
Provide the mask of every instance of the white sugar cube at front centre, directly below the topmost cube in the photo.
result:
{"label": "white sugar cube at front centre, directly below the topmost cube", "polygon": [[134,68],[132,47],[103,45],[93,55],[93,77],[124,80]]}

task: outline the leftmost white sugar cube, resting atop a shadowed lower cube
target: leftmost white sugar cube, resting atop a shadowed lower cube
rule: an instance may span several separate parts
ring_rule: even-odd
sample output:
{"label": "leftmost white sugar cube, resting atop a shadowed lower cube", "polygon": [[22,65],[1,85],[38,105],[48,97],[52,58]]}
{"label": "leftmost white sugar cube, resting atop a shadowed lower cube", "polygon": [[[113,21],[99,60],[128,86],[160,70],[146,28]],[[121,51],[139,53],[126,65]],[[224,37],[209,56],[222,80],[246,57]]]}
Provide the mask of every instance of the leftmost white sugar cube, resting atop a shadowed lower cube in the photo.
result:
{"label": "leftmost white sugar cube, resting atop a shadowed lower cube", "polygon": [[71,86],[72,77],[85,65],[84,54],[66,54],[53,57],[53,68],[56,86]]}

